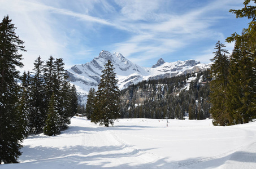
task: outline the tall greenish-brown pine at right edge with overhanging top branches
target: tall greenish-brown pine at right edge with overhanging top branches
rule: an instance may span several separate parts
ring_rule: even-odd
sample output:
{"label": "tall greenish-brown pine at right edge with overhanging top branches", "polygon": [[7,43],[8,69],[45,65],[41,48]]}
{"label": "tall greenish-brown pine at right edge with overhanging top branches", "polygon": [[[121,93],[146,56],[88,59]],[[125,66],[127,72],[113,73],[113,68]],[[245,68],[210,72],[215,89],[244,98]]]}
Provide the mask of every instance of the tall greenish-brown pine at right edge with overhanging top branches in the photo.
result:
{"label": "tall greenish-brown pine at right edge with overhanging top branches", "polygon": [[[232,72],[238,72],[229,77],[231,79],[230,94],[236,95],[229,101],[229,118],[233,124],[248,123],[256,117],[256,3],[255,0],[245,0],[245,7],[241,10],[229,10],[238,17],[251,19],[248,28],[242,30],[242,34],[233,33],[226,39],[227,42],[236,42],[232,58]],[[237,89],[237,87],[240,87]],[[233,90],[233,91],[232,91]]]}

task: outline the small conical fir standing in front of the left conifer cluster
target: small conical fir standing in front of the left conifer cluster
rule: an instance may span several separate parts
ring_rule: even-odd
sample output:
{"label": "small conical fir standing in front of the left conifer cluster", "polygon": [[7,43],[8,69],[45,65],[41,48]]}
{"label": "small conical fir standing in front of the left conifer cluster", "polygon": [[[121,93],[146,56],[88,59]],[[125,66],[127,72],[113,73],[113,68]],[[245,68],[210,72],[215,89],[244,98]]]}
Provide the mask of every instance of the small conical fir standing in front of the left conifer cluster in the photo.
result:
{"label": "small conical fir standing in front of the left conifer cluster", "polygon": [[51,95],[49,109],[47,111],[47,119],[46,126],[44,128],[44,134],[48,136],[55,136],[60,134],[59,114],[54,94]]}

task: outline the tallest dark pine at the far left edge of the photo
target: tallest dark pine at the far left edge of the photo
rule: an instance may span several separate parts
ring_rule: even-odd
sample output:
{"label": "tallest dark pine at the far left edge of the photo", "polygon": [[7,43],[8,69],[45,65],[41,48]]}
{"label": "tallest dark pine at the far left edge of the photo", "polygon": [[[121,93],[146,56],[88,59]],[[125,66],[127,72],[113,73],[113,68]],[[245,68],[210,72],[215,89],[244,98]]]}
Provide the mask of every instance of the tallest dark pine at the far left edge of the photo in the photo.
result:
{"label": "tallest dark pine at the far left edge of the photo", "polygon": [[0,164],[17,163],[24,136],[23,114],[19,112],[18,85],[23,41],[15,34],[15,26],[5,16],[0,23]]}

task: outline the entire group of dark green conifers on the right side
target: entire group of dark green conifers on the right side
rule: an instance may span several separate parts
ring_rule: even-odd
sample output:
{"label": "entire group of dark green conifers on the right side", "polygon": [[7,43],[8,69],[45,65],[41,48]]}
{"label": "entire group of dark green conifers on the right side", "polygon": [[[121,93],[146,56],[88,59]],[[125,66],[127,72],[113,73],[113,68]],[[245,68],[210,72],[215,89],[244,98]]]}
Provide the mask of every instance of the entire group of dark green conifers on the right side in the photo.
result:
{"label": "entire group of dark green conifers on the right side", "polygon": [[244,8],[230,10],[237,18],[252,19],[248,28],[242,30],[241,35],[233,33],[226,39],[229,43],[236,42],[230,65],[228,66],[227,61],[223,59],[225,55],[218,54],[220,50],[215,52],[215,57],[218,59],[213,59],[215,64],[212,66],[212,74],[215,80],[211,82],[210,95],[214,125],[248,123],[256,117],[256,6],[250,6],[250,2],[256,3],[245,0]]}

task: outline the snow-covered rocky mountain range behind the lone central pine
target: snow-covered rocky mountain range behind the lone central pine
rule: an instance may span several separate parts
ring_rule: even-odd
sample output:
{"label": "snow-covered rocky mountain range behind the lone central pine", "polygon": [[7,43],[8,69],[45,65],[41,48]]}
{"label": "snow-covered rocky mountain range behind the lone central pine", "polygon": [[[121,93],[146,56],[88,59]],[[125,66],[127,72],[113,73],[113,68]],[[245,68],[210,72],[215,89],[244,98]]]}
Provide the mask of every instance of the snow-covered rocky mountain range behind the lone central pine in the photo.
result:
{"label": "snow-covered rocky mountain range behind the lone central pine", "polygon": [[70,77],[68,80],[76,85],[78,94],[84,97],[81,100],[86,100],[90,88],[97,90],[98,83],[101,79],[101,70],[104,69],[104,65],[108,60],[114,65],[120,90],[129,86],[129,84],[135,84],[142,80],[193,73],[199,70],[206,70],[210,67],[209,64],[201,64],[196,60],[166,63],[160,58],[157,64],[151,68],[145,68],[132,63],[120,53],[114,52],[114,54],[111,54],[108,51],[101,51],[99,56],[95,57],[89,63],[74,65],[71,69],[67,70]]}

